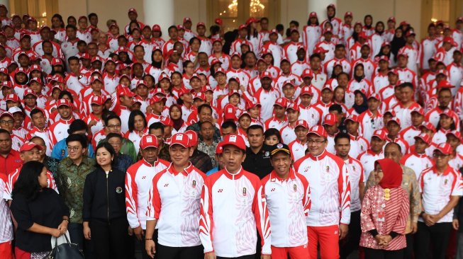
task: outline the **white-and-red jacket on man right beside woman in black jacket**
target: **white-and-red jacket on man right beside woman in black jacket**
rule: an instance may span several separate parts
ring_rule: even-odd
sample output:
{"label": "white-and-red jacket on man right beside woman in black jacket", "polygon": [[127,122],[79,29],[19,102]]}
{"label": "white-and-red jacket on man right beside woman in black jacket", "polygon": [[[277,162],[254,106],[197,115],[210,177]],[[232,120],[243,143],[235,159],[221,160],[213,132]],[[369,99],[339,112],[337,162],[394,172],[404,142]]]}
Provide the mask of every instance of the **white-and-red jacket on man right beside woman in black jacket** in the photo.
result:
{"label": "white-and-red jacket on man right beside woman in black jacket", "polygon": [[145,159],[142,159],[127,169],[125,174],[125,209],[128,224],[132,229],[138,226],[146,229],[146,209],[152,178],[169,165],[169,162],[157,159],[152,166]]}

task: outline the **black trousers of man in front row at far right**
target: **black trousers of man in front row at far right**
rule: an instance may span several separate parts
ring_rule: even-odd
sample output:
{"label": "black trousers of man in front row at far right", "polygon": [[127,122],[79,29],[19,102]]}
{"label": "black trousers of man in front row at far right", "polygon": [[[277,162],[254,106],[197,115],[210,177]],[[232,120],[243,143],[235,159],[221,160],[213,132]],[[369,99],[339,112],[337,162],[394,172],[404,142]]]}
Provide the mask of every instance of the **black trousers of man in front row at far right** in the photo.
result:
{"label": "black trousers of man in front row at far right", "polygon": [[[418,231],[415,234],[415,258],[428,258],[432,254],[433,259],[444,259],[445,251],[449,244],[452,223],[436,223],[426,226],[424,222],[418,222]],[[429,248],[432,246],[432,252]]]}

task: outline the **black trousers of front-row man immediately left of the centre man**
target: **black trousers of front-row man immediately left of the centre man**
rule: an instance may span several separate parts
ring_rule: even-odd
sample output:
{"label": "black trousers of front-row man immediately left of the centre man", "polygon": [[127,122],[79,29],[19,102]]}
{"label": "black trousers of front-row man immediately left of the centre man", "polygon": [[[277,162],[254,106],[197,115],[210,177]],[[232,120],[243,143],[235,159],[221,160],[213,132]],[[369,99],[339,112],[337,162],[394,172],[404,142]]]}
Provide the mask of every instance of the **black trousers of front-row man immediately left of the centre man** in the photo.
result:
{"label": "black trousers of front-row man immediately left of the centre man", "polygon": [[189,247],[170,247],[157,245],[157,258],[162,259],[203,259],[204,248],[202,245]]}

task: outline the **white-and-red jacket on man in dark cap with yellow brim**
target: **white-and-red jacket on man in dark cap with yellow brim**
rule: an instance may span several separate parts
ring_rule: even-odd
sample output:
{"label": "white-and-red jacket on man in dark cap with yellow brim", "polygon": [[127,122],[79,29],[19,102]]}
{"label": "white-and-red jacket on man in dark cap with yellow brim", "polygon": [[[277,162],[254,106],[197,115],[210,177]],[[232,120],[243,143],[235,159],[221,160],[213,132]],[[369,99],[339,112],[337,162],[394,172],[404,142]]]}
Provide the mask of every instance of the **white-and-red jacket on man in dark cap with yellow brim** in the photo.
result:
{"label": "white-and-red jacket on man in dark cap with yellow brim", "polygon": [[307,179],[291,168],[282,180],[275,171],[262,179],[272,224],[272,246],[296,247],[307,244],[306,216],[311,208]]}

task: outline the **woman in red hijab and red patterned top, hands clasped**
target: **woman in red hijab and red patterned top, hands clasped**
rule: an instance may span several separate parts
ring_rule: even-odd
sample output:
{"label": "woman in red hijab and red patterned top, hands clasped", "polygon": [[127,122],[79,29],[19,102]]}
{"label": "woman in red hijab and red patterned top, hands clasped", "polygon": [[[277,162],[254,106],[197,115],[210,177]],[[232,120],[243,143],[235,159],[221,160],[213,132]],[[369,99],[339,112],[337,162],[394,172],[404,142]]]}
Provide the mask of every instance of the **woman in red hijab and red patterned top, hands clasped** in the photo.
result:
{"label": "woman in red hijab and red patterned top, hands clasped", "polygon": [[402,168],[392,159],[380,159],[374,176],[378,184],[367,190],[362,202],[360,246],[366,259],[402,258],[410,210],[407,192],[401,188]]}

